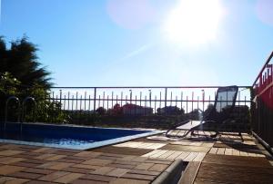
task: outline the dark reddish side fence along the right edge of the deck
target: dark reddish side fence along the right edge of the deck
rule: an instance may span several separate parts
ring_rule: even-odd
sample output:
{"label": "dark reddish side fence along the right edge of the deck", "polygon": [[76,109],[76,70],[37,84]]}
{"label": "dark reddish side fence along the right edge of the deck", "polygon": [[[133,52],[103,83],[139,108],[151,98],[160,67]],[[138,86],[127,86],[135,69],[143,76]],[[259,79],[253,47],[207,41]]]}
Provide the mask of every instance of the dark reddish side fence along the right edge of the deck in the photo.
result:
{"label": "dark reddish side fence along the right edge of the deck", "polygon": [[273,52],[253,83],[252,127],[273,147]]}

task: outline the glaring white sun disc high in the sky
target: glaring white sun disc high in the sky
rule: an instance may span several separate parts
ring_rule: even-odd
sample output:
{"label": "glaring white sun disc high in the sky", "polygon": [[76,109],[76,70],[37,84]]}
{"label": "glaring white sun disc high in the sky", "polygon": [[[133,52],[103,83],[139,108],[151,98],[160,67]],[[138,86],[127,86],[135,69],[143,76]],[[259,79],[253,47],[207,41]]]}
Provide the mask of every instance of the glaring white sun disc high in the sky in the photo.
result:
{"label": "glaring white sun disc high in the sky", "polygon": [[164,34],[178,44],[206,44],[217,38],[222,16],[219,0],[180,0],[167,16]]}

